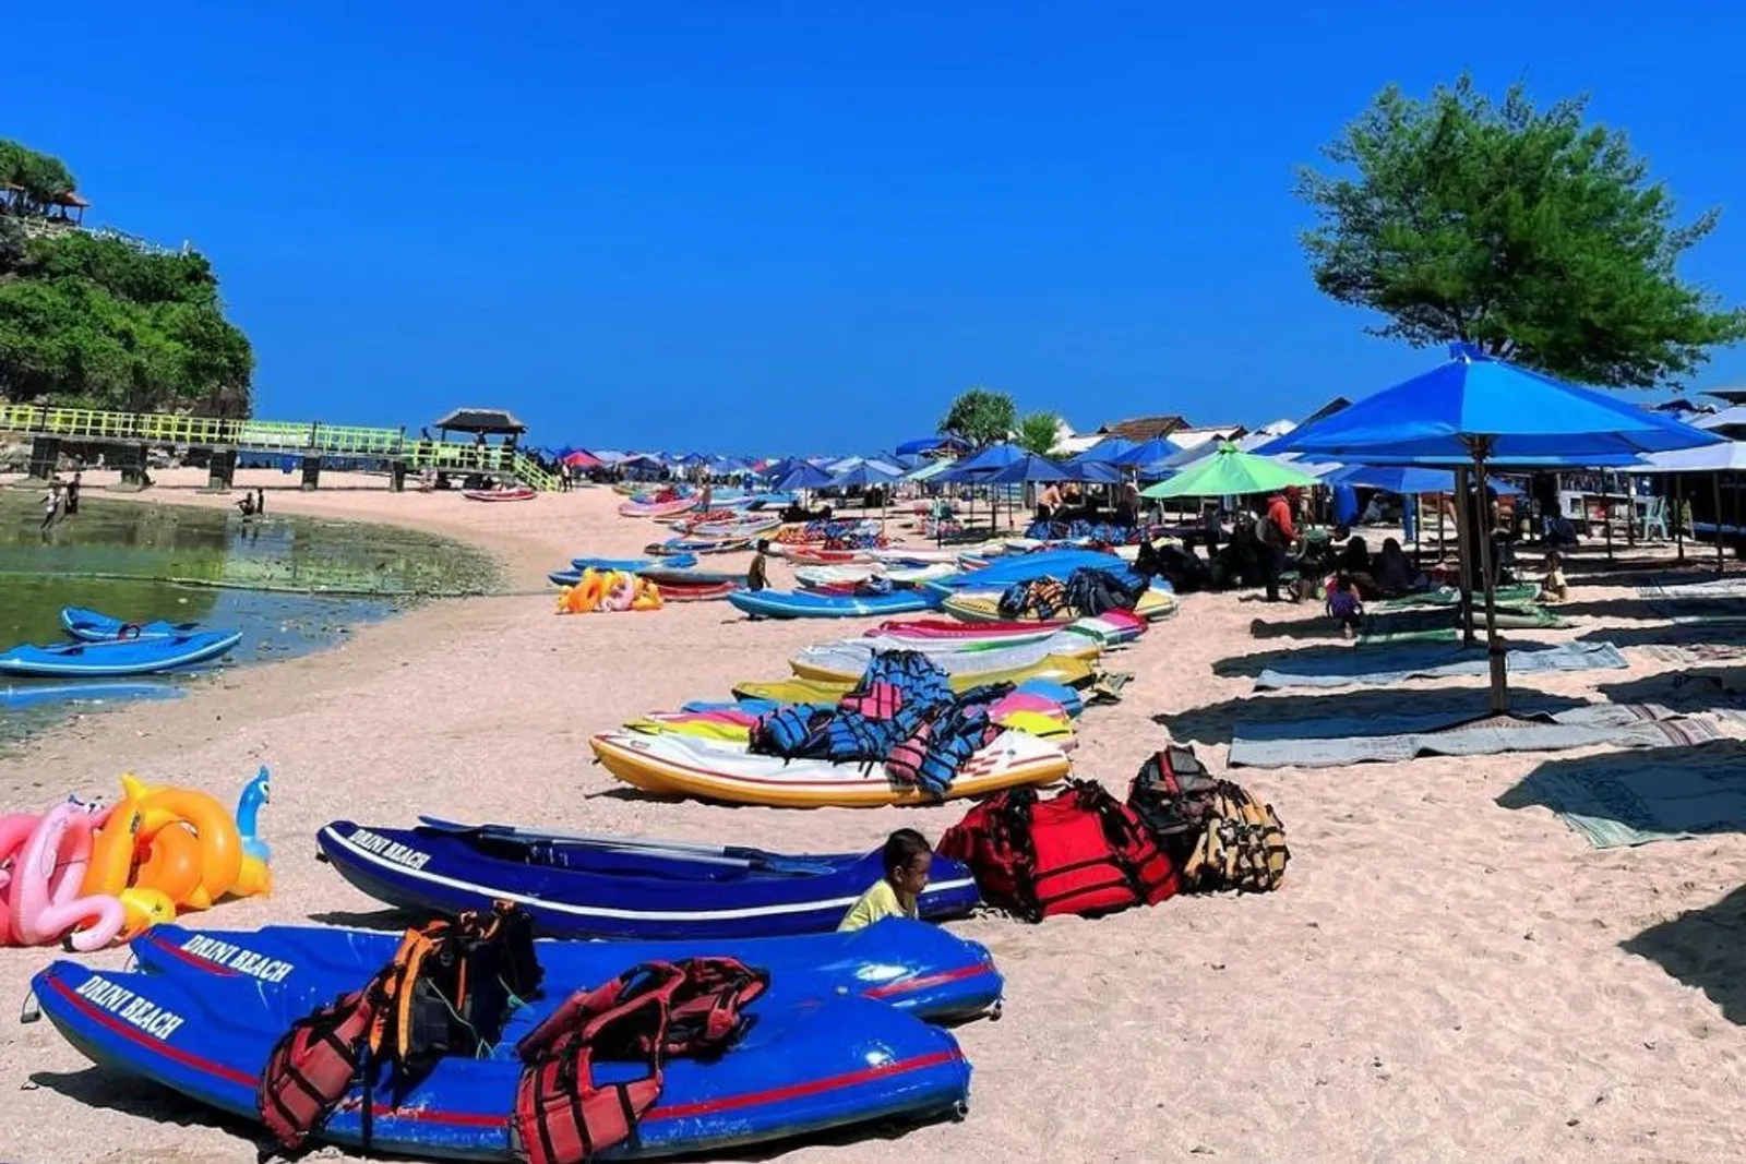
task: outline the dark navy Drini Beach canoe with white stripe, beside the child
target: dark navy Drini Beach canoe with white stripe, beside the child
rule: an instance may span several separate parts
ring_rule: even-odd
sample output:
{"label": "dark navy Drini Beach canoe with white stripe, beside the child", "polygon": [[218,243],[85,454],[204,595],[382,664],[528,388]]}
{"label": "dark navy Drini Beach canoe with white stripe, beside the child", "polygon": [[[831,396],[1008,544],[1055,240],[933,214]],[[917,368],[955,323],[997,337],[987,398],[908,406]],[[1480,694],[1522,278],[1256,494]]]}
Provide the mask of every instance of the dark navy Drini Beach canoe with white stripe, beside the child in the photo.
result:
{"label": "dark navy Drini Beach canoe with white stripe, beside the child", "polygon": [[[821,934],[883,876],[878,852],[793,857],[430,817],[416,829],[335,820],[316,845],[377,900],[449,914],[510,900],[562,937]],[[922,916],[962,916],[978,900],[971,871],[936,857]]]}

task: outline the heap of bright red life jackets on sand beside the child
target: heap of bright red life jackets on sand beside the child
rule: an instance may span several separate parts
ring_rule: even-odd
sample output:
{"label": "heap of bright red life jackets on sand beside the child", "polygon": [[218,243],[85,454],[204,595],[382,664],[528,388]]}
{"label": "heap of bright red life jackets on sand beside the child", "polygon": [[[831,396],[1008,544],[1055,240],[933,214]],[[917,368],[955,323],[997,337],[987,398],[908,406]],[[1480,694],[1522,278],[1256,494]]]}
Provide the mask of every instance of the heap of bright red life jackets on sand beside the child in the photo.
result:
{"label": "heap of bright red life jackets on sand beside the child", "polygon": [[1090,780],[1046,801],[1030,789],[990,798],[946,831],[939,852],[971,866],[985,900],[1030,921],[1152,906],[1180,888],[1133,810]]}

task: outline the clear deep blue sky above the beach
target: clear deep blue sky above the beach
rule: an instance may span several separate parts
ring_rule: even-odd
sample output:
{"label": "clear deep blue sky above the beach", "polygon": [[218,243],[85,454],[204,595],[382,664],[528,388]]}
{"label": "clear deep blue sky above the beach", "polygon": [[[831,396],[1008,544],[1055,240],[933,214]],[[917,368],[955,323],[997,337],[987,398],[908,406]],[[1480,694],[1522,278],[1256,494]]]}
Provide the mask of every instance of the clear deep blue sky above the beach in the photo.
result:
{"label": "clear deep blue sky above the beach", "polygon": [[[986,384],[1079,428],[1301,415],[1439,356],[1323,300],[1294,166],[1388,82],[1592,92],[1746,300],[1746,9],[80,3],[0,136],[218,265],[257,412],[856,450]],[[77,42],[77,44],[73,44]],[[1720,353],[1695,386],[1746,380]]]}

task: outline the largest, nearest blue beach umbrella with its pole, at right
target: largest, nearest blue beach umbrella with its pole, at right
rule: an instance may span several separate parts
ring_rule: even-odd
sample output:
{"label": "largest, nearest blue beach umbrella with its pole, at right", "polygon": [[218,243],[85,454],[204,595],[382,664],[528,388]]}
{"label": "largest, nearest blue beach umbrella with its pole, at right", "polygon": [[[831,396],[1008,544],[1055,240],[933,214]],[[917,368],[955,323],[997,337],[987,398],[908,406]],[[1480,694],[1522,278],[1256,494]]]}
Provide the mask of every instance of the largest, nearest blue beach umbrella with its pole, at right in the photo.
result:
{"label": "largest, nearest blue beach umbrella with its pole, at right", "polygon": [[[1453,344],[1447,363],[1306,424],[1266,450],[1416,464],[1458,464],[1465,457],[1472,473],[1484,480],[1488,464],[1514,464],[1521,457],[1634,457],[1718,440],[1615,396],[1493,359],[1472,344]],[[1467,471],[1456,478],[1461,501],[1467,501]],[[1463,557],[1472,553],[1467,541],[1461,539]],[[1486,588],[1491,710],[1507,716],[1509,677],[1498,639],[1491,537],[1477,541]],[[1470,571],[1463,571],[1463,592],[1468,578]]]}

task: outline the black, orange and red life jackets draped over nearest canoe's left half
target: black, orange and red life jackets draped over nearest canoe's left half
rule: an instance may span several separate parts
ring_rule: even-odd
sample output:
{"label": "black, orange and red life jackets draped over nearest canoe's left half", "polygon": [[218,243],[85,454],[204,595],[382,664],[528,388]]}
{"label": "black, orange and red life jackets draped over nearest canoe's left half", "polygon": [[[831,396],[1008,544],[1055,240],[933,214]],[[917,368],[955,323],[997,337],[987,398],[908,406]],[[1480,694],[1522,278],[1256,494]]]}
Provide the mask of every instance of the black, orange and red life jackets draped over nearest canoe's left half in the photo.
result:
{"label": "black, orange and red life jackets draped over nearest canoe's left half", "polygon": [[363,988],[297,1019],[272,1045],[255,1091],[262,1124],[285,1148],[300,1148],[361,1082],[368,1148],[377,1070],[419,1072],[443,1054],[471,1054],[478,1040],[496,1038],[506,991],[533,998],[540,976],[533,921],[520,909],[468,911],[407,930]]}

